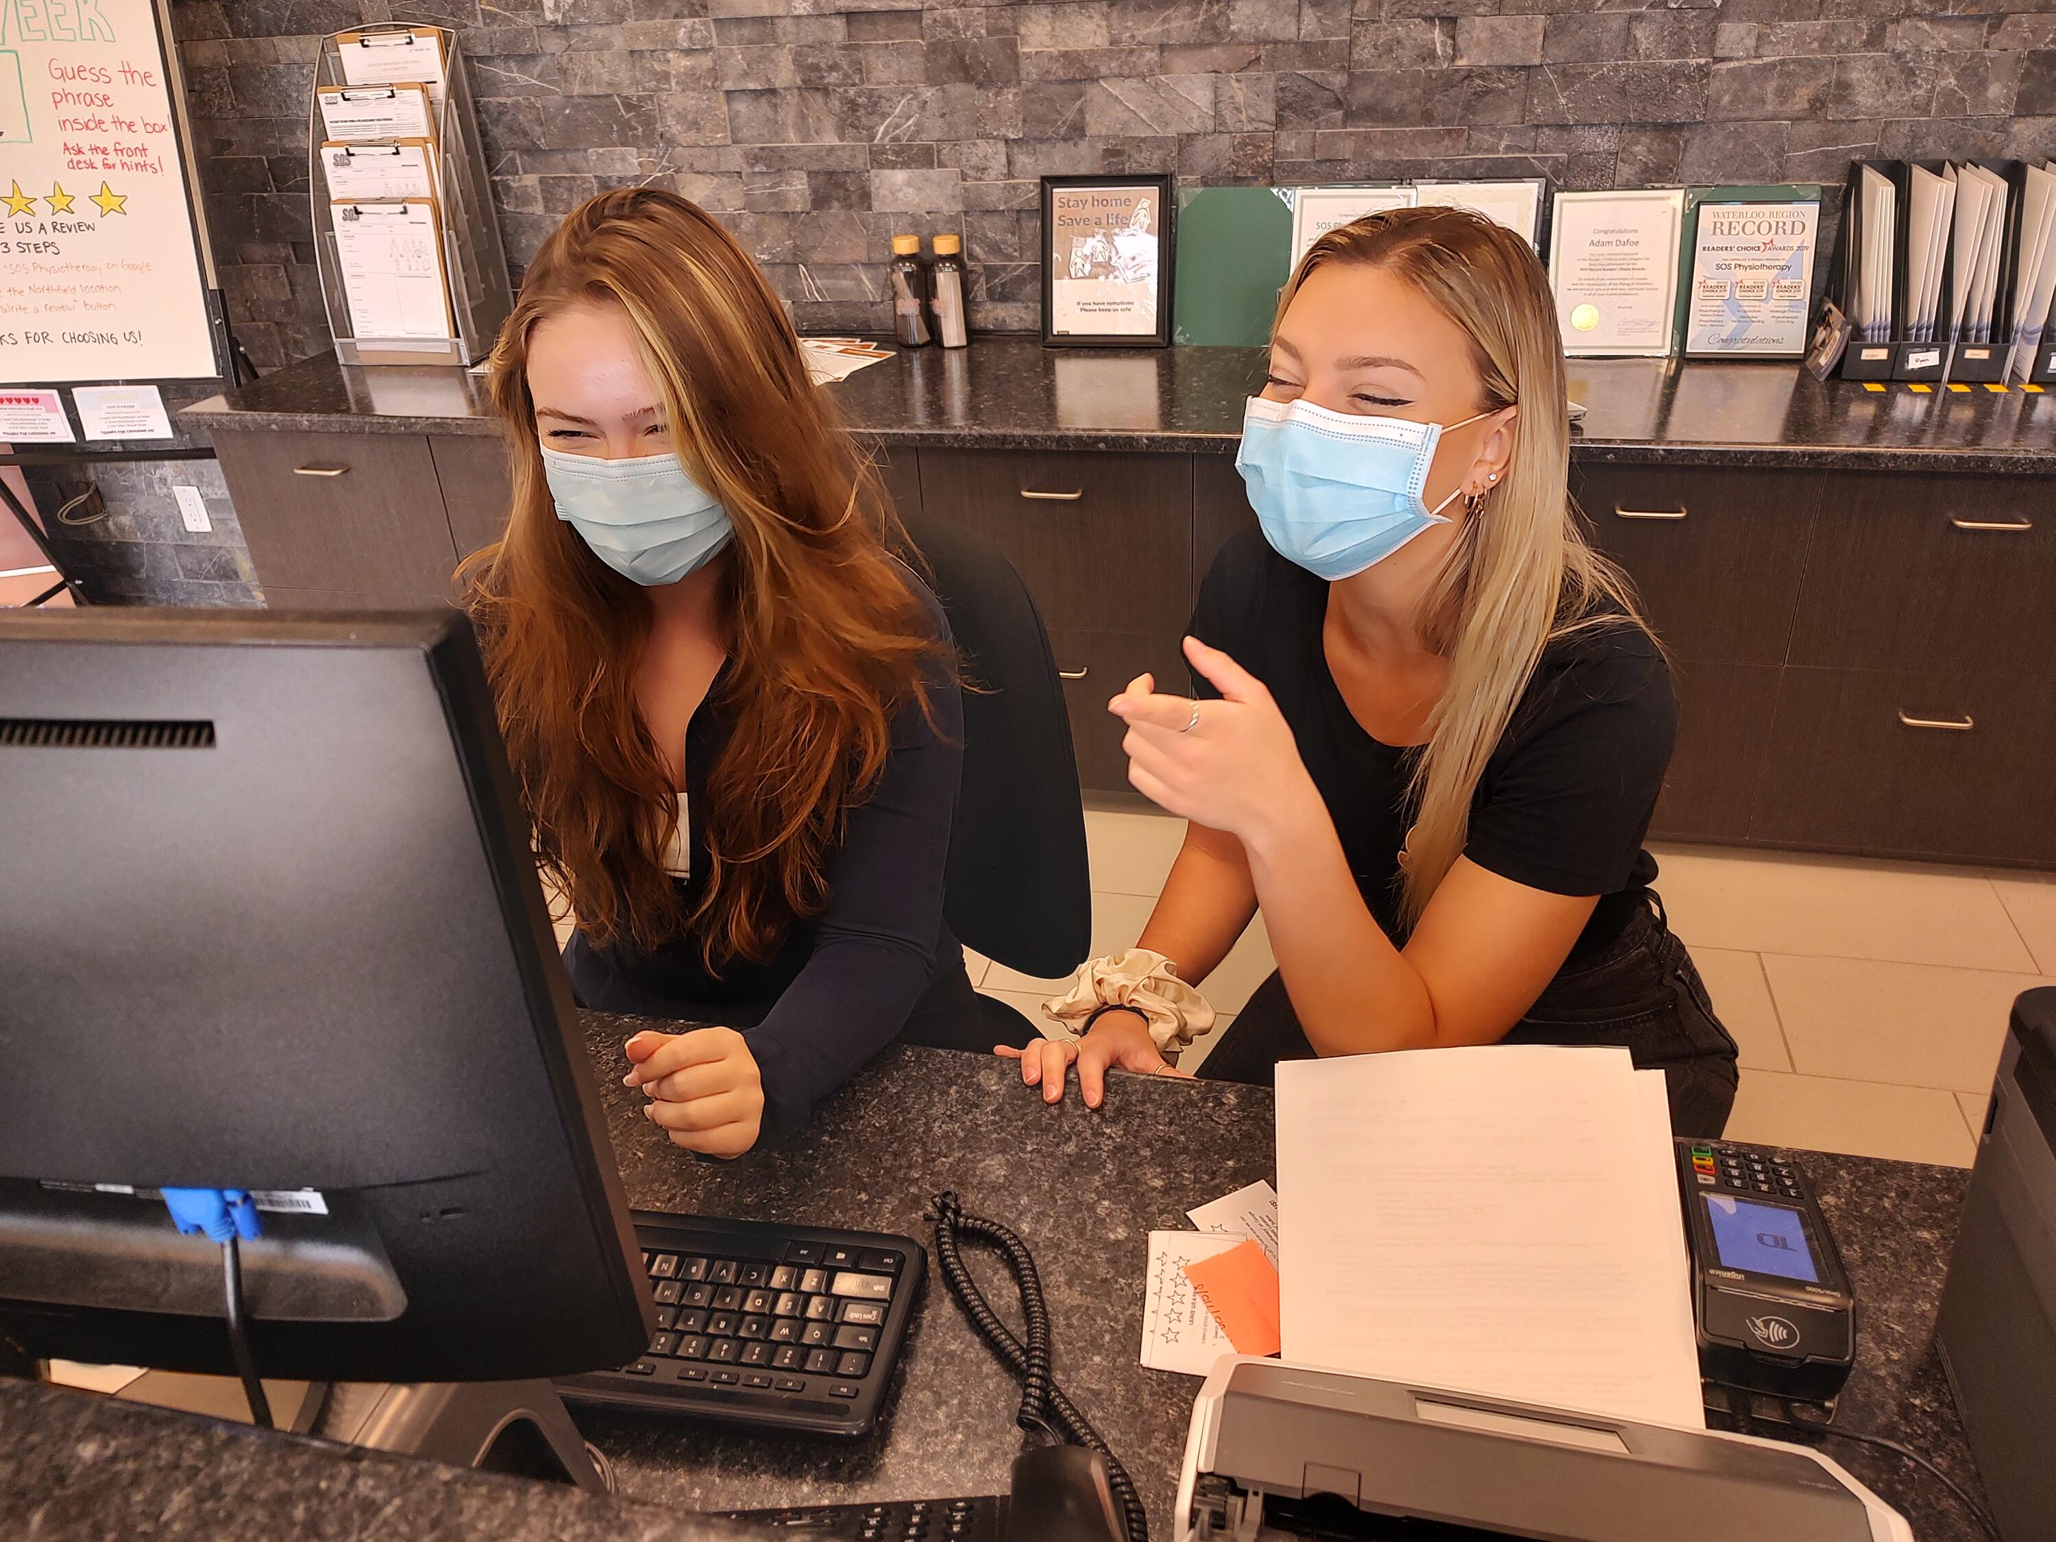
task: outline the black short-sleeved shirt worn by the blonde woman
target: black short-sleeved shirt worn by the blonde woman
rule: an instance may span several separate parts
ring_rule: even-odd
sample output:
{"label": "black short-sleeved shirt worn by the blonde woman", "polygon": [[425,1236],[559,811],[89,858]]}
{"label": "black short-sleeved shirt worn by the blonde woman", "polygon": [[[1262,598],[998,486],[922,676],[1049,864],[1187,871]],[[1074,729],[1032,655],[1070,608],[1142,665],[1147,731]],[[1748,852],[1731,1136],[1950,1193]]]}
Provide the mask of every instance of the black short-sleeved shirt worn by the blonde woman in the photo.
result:
{"label": "black short-sleeved shirt worn by the blonde woman", "polygon": [[[1398,940],[1398,853],[1412,822],[1415,750],[1371,738],[1343,701],[1322,648],[1328,584],[1277,555],[1258,530],[1213,559],[1192,635],[1260,678],[1299,744],[1371,915]],[[1192,687],[1217,697],[1201,678]],[[1552,641],[1470,800],[1464,855],[1550,894],[1600,894],[1571,958],[1614,938],[1655,878],[1643,851],[1678,701],[1663,654],[1620,621]]]}

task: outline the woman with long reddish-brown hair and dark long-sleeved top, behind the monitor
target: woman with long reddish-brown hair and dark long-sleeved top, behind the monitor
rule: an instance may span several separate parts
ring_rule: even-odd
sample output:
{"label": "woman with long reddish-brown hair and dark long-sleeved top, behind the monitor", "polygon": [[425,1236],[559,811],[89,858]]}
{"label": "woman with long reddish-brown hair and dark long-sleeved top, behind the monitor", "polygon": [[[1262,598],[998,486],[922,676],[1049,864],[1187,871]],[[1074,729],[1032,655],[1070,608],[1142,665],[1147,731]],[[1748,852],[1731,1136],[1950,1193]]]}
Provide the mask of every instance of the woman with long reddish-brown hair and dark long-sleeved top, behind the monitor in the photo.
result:
{"label": "woman with long reddish-brown hair and dark long-sleeved top, behind the monitor", "polygon": [[683,197],[600,193],[528,267],[491,395],[514,508],[471,609],[574,989],[722,1024],[627,1042],[650,1118],[738,1155],[894,1036],[987,1049],[942,919],[948,627],[748,255]]}

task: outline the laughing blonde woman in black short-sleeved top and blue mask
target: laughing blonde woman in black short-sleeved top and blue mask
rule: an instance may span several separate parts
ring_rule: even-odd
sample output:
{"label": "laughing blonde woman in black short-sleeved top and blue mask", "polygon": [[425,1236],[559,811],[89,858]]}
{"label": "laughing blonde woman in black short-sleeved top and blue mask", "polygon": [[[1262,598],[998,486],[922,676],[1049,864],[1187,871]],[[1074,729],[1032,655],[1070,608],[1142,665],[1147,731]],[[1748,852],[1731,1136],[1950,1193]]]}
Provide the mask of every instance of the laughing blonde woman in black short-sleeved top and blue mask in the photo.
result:
{"label": "laughing blonde woman in black short-sleeved top and blue mask", "polygon": [[1188,820],[1139,944],[999,1047],[1051,1102],[1075,1061],[1166,1073],[1192,987],[1260,909],[1277,972],[1203,1075],[1441,1044],[1620,1044],[1680,1135],[1719,1135],[1735,1042],[1649,888],[1678,732],[1663,652],[1567,493],[1563,345],[1523,241],[1462,210],[1322,236],[1279,306],[1229,541],[1184,652],[1108,705],[1129,781]]}

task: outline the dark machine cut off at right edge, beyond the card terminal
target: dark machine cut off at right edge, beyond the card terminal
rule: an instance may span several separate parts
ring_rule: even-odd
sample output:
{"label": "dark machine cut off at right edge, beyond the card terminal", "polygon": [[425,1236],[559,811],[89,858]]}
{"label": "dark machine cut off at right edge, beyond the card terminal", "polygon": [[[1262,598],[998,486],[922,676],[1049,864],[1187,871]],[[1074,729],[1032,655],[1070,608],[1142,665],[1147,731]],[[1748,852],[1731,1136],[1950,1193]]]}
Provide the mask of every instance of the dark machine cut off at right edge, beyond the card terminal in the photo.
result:
{"label": "dark machine cut off at right edge, beyond the card terminal", "polygon": [[2007,1542],[2056,1542],[2056,987],[2013,1003],[1935,1324]]}

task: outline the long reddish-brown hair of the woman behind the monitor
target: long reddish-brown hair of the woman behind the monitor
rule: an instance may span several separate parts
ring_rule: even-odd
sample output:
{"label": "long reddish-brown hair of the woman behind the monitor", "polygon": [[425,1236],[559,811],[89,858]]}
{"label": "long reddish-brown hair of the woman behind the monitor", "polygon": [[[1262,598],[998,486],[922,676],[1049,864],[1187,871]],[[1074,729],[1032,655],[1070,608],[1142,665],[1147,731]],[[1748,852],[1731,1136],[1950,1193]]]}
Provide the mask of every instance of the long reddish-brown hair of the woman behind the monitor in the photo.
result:
{"label": "long reddish-brown hair of the woman behind the monitor", "polygon": [[[650,598],[555,516],[543,479],[528,337],[582,304],[627,315],[672,450],[734,524],[715,685],[732,732],[707,777],[709,872],[691,911],[660,864],[676,800],[635,707]],[[674,193],[617,189],[565,216],[500,331],[491,399],[514,508],[465,574],[537,857],[596,944],[697,931],[709,968],[767,958],[827,905],[824,864],[884,771],[892,715],[927,711],[942,646],[886,551],[890,502],[763,273]]]}

